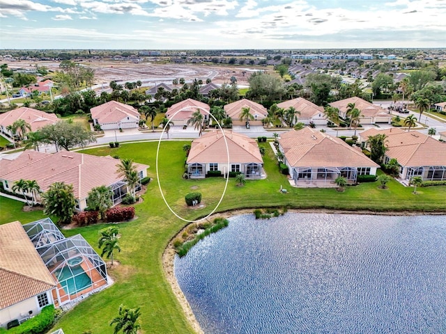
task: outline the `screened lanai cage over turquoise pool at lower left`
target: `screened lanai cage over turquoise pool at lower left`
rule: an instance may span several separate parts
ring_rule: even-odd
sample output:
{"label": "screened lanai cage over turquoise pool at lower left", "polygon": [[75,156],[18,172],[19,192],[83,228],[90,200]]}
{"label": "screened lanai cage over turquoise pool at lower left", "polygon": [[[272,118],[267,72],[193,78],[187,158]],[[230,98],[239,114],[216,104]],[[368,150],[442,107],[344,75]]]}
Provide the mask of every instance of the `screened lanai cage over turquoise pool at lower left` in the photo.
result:
{"label": "screened lanai cage over turquoise pool at lower left", "polygon": [[78,301],[107,286],[105,262],[81,234],[66,238],[49,218],[23,227],[56,280],[56,303]]}

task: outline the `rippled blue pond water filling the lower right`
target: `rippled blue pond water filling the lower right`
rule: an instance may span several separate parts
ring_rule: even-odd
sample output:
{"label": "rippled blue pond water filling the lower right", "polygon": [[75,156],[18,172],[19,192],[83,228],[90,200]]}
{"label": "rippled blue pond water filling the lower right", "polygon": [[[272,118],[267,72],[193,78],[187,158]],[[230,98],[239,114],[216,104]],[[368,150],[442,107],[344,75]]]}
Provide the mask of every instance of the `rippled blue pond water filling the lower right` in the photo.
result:
{"label": "rippled blue pond water filling the lower right", "polygon": [[236,216],[174,265],[205,333],[446,333],[446,216]]}

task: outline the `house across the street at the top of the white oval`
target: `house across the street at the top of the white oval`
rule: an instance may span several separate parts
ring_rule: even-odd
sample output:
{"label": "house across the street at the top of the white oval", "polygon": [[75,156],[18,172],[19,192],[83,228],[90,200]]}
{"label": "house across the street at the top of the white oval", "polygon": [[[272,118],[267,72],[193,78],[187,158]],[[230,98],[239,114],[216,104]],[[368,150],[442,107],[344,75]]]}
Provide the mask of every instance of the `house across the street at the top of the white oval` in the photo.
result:
{"label": "house across the street at the top of the white oval", "polygon": [[204,120],[209,119],[210,106],[206,103],[193,99],[187,99],[172,105],[167,109],[166,118],[174,123],[174,126],[187,125],[187,121],[192,118],[192,113],[199,110]]}

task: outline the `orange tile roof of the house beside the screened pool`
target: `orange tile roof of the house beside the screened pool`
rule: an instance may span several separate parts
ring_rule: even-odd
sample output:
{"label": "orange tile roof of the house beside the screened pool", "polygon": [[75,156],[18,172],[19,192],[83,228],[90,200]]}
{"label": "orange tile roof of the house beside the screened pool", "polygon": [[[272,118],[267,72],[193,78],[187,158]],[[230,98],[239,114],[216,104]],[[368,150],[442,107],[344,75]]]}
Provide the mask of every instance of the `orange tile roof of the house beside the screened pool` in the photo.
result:
{"label": "orange tile roof of the house beside the screened pool", "polygon": [[0,310],[56,287],[19,221],[0,225]]}

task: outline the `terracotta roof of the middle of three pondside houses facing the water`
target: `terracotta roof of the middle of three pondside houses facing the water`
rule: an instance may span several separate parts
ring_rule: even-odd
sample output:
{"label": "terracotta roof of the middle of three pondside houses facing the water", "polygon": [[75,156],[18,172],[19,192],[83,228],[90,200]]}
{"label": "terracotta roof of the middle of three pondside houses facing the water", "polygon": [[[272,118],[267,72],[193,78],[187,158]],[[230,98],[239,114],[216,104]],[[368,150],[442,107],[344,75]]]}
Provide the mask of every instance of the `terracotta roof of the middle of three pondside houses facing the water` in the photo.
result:
{"label": "terracotta roof of the middle of three pondside houses facing the water", "polygon": [[279,145],[293,167],[379,167],[341,139],[309,127],[282,134]]}

